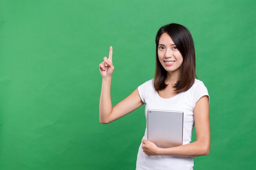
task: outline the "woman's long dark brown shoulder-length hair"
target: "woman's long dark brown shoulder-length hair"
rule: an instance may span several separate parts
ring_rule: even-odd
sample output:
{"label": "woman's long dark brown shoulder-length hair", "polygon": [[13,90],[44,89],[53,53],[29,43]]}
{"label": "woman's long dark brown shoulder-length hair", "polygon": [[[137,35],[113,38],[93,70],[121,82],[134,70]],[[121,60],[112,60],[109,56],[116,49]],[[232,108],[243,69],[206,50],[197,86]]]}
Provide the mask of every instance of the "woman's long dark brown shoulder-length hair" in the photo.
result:
{"label": "woman's long dark brown shoulder-length hair", "polygon": [[168,24],[162,26],[158,31],[155,37],[156,44],[156,67],[155,67],[155,79],[154,87],[156,91],[166,88],[168,84],[165,84],[165,79],[167,76],[167,71],[164,69],[158,58],[158,44],[160,36],[163,33],[167,33],[177,49],[180,51],[183,62],[180,66],[180,75],[176,84],[173,86],[177,93],[181,93],[189,90],[195,82],[195,47],[193,38],[189,30],[180,24]]}

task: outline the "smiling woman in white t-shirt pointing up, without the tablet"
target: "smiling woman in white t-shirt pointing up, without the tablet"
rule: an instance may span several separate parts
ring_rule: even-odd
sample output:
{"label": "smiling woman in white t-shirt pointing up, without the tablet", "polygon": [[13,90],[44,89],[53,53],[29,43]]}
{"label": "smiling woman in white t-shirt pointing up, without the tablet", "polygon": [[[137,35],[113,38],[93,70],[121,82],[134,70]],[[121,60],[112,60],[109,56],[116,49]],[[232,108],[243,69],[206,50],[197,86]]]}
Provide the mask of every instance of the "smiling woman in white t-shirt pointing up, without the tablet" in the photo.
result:
{"label": "smiling woman in white t-shirt pointing up, without the tablet", "polygon": [[[210,150],[209,95],[195,79],[195,49],[189,30],[180,24],[162,26],[156,35],[155,77],[141,84],[126,99],[112,107],[110,98],[112,46],[109,57],[99,64],[102,88],[100,122],[108,124],[146,104],[148,109],[183,111],[183,145],[158,148],[147,141],[147,124],[137,155],[137,170],[191,170],[193,157]],[[196,141],[191,142],[195,125]]]}

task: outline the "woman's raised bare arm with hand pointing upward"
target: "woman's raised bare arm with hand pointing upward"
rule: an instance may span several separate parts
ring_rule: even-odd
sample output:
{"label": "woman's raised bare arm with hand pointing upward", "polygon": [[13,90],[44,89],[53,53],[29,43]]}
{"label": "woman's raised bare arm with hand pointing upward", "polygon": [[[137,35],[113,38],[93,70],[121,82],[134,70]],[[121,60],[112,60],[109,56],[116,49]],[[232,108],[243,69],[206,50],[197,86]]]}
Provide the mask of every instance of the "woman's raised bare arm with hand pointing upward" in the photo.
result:
{"label": "woman's raised bare arm with hand pointing upward", "polygon": [[101,97],[99,102],[99,120],[102,124],[108,124],[133,110],[139,108],[144,103],[139,97],[136,89],[128,97],[112,107],[110,97],[111,78],[114,71],[112,63],[112,46],[110,46],[109,56],[103,58],[104,61],[99,64],[99,71],[102,76]]}

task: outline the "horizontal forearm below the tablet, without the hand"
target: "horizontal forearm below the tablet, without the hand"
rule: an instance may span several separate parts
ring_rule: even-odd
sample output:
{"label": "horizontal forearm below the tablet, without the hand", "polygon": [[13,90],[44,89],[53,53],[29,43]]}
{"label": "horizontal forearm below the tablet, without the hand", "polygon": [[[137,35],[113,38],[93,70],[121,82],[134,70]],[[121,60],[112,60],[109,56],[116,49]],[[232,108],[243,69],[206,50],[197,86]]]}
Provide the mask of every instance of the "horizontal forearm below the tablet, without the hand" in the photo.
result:
{"label": "horizontal forearm below the tablet, without the hand", "polygon": [[159,148],[157,155],[171,155],[176,157],[197,157],[208,155],[210,150],[209,144],[195,141],[190,144],[181,145],[173,148]]}

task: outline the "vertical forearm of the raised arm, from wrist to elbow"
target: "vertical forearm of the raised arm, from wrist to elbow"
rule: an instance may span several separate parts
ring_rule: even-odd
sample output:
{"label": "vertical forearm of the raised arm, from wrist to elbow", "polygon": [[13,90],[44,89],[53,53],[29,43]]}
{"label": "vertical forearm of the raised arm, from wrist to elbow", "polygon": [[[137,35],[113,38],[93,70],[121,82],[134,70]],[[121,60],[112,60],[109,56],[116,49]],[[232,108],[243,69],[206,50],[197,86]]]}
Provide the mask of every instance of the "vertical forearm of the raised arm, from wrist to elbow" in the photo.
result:
{"label": "vertical forearm of the raised arm, from wrist to elbow", "polygon": [[99,119],[102,124],[109,123],[108,117],[112,112],[110,86],[111,86],[111,77],[102,78],[101,97],[99,101]]}

